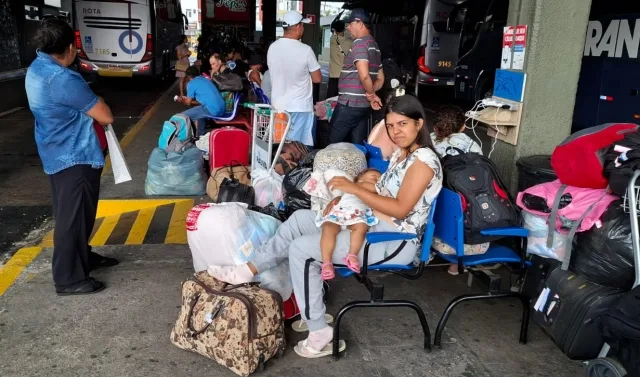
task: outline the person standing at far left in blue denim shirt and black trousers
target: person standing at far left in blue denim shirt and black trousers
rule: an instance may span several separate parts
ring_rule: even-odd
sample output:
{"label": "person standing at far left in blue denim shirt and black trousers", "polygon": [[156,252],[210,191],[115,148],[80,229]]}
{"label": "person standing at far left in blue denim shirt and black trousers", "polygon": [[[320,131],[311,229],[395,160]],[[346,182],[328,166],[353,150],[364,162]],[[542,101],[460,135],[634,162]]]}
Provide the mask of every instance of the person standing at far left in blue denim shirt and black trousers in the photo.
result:
{"label": "person standing at far left in blue denim shirt and black trousers", "polygon": [[56,220],[52,269],[59,295],[103,290],[89,272],[118,264],[89,246],[104,166],[93,122],[111,124],[113,115],[82,76],[67,68],[76,57],[74,38],[65,21],[43,21],[34,38],[38,56],[25,79],[38,153],[51,186]]}

